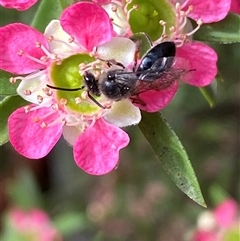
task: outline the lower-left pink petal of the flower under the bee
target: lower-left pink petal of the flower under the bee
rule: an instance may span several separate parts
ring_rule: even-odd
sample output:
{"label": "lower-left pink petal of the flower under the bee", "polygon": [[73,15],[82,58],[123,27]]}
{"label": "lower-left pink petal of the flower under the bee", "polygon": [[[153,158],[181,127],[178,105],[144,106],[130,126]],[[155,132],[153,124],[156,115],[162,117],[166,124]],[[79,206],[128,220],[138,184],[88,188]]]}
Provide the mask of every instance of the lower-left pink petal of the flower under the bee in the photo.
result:
{"label": "lower-left pink petal of the flower under the bee", "polygon": [[[41,121],[34,121],[49,111],[49,108],[41,108],[25,113],[22,107],[10,115],[8,119],[9,139],[18,153],[27,158],[39,159],[46,156],[55,146],[62,135],[62,125],[57,123],[42,128]],[[44,121],[50,123],[57,118],[58,113],[55,112]]]}

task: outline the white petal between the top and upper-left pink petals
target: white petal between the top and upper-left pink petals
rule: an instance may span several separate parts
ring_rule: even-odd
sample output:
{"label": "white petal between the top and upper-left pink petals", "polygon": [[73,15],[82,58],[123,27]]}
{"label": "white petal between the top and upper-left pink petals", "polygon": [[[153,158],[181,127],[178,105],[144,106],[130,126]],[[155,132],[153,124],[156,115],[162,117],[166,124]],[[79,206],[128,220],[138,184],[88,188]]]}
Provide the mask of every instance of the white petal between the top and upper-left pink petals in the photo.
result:
{"label": "white petal between the top and upper-left pink petals", "polygon": [[47,38],[54,37],[55,41],[49,42],[50,50],[54,54],[71,54],[79,48],[77,44],[69,43],[71,36],[63,30],[59,20],[52,20],[46,27],[44,35]]}

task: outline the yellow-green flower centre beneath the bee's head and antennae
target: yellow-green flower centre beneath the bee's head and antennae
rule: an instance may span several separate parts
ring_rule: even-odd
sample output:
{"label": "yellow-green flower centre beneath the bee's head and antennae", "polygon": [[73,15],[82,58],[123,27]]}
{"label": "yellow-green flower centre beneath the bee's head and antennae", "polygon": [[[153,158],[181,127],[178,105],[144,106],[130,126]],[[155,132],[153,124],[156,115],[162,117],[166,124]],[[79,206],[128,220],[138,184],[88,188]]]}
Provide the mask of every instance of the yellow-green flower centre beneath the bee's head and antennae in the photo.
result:
{"label": "yellow-green flower centre beneath the bee's head and antennae", "polygon": [[[57,102],[67,111],[84,115],[92,115],[99,111],[99,106],[105,106],[104,96],[91,93],[91,86],[81,74],[82,66],[95,59],[87,54],[77,54],[62,61],[61,65],[52,64],[50,68],[50,88],[55,89]],[[81,63],[79,65],[79,63]],[[88,67],[85,67],[88,70]],[[97,71],[97,67],[94,71]],[[94,72],[93,72],[94,73]],[[97,86],[97,80],[93,84]],[[97,105],[96,103],[99,103]]]}

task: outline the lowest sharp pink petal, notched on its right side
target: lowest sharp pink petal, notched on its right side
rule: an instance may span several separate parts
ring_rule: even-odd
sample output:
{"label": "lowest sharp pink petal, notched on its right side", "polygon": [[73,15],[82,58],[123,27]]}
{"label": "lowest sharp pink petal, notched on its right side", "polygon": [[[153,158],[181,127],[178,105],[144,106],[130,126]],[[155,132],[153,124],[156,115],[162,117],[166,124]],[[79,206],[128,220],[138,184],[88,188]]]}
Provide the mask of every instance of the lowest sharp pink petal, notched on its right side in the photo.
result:
{"label": "lowest sharp pink petal, notched on its right side", "polygon": [[99,119],[76,140],[73,148],[74,159],[85,172],[103,175],[116,167],[119,150],[128,143],[127,133]]}

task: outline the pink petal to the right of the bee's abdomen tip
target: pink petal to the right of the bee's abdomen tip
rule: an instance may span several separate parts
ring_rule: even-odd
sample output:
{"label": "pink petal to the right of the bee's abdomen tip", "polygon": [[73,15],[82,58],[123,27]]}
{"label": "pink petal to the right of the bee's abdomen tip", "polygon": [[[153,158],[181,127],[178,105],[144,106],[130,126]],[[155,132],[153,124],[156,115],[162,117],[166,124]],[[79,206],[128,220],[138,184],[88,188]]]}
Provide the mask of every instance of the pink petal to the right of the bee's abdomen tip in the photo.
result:
{"label": "pink petal to the right of the bee's abdomen tip", "polygon": [[[177,48],[176,56],[185,58],[189,61],[191,78],[184,81],[194,86],[209,85],[217,74],[217,54],[215,51],[200,42],[186,43]],[[184,77],[183,77],[184,78]]]}

